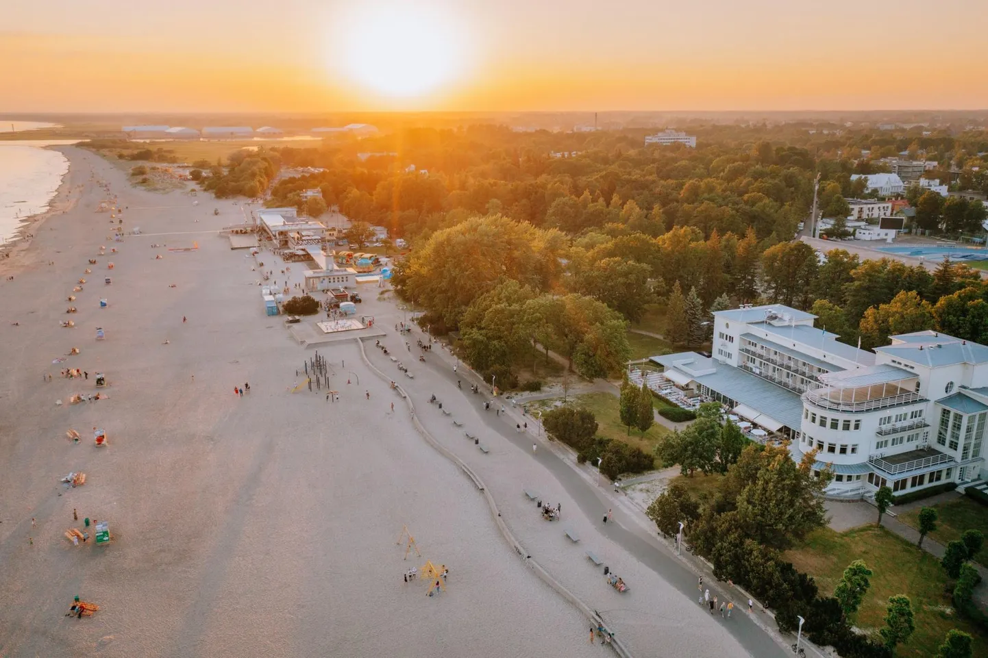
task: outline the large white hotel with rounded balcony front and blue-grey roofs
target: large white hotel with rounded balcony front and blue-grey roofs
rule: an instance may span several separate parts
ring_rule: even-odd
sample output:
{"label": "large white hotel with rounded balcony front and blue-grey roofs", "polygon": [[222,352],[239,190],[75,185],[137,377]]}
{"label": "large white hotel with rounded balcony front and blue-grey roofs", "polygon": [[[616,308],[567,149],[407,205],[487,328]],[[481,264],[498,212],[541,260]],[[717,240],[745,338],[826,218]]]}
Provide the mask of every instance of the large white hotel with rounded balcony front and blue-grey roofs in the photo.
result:
{"label": "large white hotel with rounded balcony front and blue-grey roofs", "polygon": [[988,347],[921,331],[872,353],[780,304],[713,315],[713,358],[686,352],[652,361],[678,385],[790,439],[793,458],[816,449],[814,468],[834,474],[829,495],[980,478]]}

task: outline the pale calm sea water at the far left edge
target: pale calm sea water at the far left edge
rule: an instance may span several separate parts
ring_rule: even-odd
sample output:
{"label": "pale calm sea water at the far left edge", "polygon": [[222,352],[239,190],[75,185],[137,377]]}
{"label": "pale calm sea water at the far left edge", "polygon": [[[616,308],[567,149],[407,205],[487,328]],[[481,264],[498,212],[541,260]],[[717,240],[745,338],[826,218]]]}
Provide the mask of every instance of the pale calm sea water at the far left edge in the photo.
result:
{"label": "pale calm sea water at the far left edge", "polygon": [[[54,123],[0,122],[0,133],[54,127]],[[74,143],[74,139],[4,141],[0,134],[0,242],[14,237],[21,223],[44,212],[54,197],[68,159],[41,146]]]}

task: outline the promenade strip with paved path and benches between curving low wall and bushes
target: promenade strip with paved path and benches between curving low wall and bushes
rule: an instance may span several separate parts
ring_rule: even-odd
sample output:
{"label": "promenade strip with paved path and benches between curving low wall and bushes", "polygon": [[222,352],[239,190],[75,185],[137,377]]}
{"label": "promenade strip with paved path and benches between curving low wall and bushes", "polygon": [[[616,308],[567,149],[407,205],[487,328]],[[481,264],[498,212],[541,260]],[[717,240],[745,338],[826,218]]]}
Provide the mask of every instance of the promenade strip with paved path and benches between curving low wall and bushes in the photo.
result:
{"label": "promenade strip with paved path and benches between curving low wall and bushes", "polygon": [[[370,356],[371,360],[378,358],[373,354]],[[532,420],[531,417],[522,414],[520,406],[512,408],[510,403],[505,403],[503,413],[485,413],[482,403],[487,399],[486,395],[477,396],[474,401],[474,394],[468,392],[471,383],[480,383],[479,377],[466,369],[463,364],[459,364],[456,372],[453,373],[454,361],[453,355],[445,349],[434,348],[425,369],[428,372],[420,371],[423,370],[421,368],[416,371],[417,385],[409,394],[413,397],[421,395],[423,400],[427,400],[431,393],[436,393],[446,402],[444,411],[451,410],[453,418],[457,422],[464,423],[464,430],[459,432],[466,431],[472,436],[478,436],[490,453],[478,452],[472,442],[463,440],[462,434],[458,438],[446,438],[450,434],[450,419],[435,413],[431,405],[418,405],[424,407],[420,420],[429,427],[438,441],[468,463],[471,470],[480,475],[483,475],[485,470],[491,473],[491,477],[485,479],[492,488],[492,493],[497,497],[498,506],[508,519],[507,523],[512,531],[525,540],[527,549],[531,551],[533,557],[550,570],[566,588],[577,596],[589,597],[588,600],[592,602],[599,585],[594,582],[593,577],[590,577],[588,582],[587,577],[574,578],[573,573],[574,559],[586,562],[583,552],[580,551],[579,557],[575,557],[570,554],[572,551],[566,547],[568,545],[566,542],[558,543],[558,540],[554,539],[554,534],[546,536],[546,522],[541,521],[540,518],[536,519],[535,506],[522,495],[522,491],[526,488],[535,489],[540,496],[544,496],[546,502],[564,499],[562,510],[564,527],[574,530],[580,537],[580,546],[598,551],[613,569],[619,568],[619,573],[634,590],[632,594],[627,595],[627,599],[621,599],[620,603],[616,602],[612,606],[613,610],[598,608],[602,616],[617,627],[618,633],[627,640],[627,646],[632,652],[636,649],[639,650],[638,653],[641,649],[647,650],[649,643],[645,641],[646,638],[655,637],[652,633],[662,630],[670,621],[674,621],[677,625],[676,632],[681,639],[700,632],[701,628],[696,627],[694,622],[678,617],[689,615],[690,618],[695,618],[695,614],[689,613],[689,608],[683,610],[682,604],[686,600],[682,597],[685,595],[688,600],[696,601],[697,576],[703,573],[708,583],[704,584],[704,589],[709,587],[711,596],[717,594],[723,600],[735,602],[735,616],[730,622],[721,624],[721,627],[747,652],[760,658],[782,656],[787,653],[787,649],[782,647],[787,647],[792,640],[783,638],[778,633],[775,620],[771,616],[761,612],[753,616],[747,615],[746,612],[742,613],[744,609],[742,604],[746,603],[746,595],[717,583],[706,573],[701,561],[694,556],[685,554],[682,558],[678,558],[670,546],[658,538],[654,524],[627,498],[613,493],[610,487],[599,486],[596,469],[590,468],[587,464],[576,464],[575,459],[564,447],[546,442],[541,436],[537,436],[535,423],[530,423],[529,432],[517,432],[516,425]],[[387,371],[386,363],[382,363],[381,366]],[[466,384],[461,390],[456,388],[457,378]],[[501,405],[501,401],[497,398],[495,401],[497,408]],[[480,423],[480,429],[477,423]],[[447,429],[443,430],[444,427]],[[535,451],[533,442],[535,442]],[[518,465],[506,467],[504,461],[507,459],[512,463],[517,462]],[[495,467],[495,460],[501,461],[501,465]],[[525,465],[526,462],[529,465]],[[533,470],[535,464],[540,468]],[[547,471],[561,487],[559,492],[553,494],[545,490],[552,485],[534,474],[541,472],[541,469]],[[510,493],[512,491],[516,493],[512,495]],[[566,512],[567,509],[573,509],[572,505],[575,505],[581,513],[577,515],[581,519],[574,518],[573,512]],[[609,509],[614,510],[615,516],[611,523],[602,524],[601,516]],[[530,517],[533,521],[529,521]],[[548,527],[553,528],[554,532],[561,533],[561,530],[555,530],[554,525]],[[613,547],[608,548],[609,545]],[[641,573],[635,575],[634,566],[627,558],[622,558],[622,555],[627,555],[644,565],[651,571],[651,577],[646,578]],[[577,569],[577,572],[582,571],[582,568]],[[655,577],[663,583],[660,588],[656,590],[655,586],[643,587]],[[638,581],[642,582],[642,586],[635,588],[635,583]],[[672,599],[669,598],[670,594],[662,594],[670,587],[675,591]],[[646,589],[653,591],[646,594]],[[605,594],[606,599],[611,600],[613,593]],[[662,603],[659,605],[642,599],[645,596],[654,598],[656,594],[661,597]],[[644,608],[642,608],[643,604]],[[669,605],[672,605],[672,608],[669,608]],[[696,618],[697,621],[709,618],[697,617],[699,617]],[[717,621],[719,623],[720,619]],[[672,635],[662,635],[664,642],[672,639]],[[684,648],[688,648],[688,645],[684,645]],[[723,649],[730,653],[726,647]],[[696,654],[696,651],[694,653]]]}

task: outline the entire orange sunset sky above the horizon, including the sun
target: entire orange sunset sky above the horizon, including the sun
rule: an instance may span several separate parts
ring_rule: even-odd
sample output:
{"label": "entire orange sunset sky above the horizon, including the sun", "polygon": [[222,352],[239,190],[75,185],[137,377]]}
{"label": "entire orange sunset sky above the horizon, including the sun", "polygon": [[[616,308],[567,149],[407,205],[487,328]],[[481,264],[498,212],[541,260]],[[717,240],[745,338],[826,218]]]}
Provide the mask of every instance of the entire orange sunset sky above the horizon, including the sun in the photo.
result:
{"label": "entire orange sunset sky above the horizon, including the sun", "polygon": [[986,0],[37,0],[0,112],[988,108]]}

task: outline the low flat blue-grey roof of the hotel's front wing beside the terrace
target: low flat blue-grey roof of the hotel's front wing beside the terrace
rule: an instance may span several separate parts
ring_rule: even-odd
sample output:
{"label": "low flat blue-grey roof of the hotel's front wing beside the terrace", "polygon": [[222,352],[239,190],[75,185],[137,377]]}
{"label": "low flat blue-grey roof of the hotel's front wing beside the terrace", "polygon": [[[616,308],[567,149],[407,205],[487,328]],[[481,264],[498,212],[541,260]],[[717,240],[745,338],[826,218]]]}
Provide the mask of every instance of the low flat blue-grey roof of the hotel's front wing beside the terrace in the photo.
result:
{"label": "low flat blue-grey roof of the hotel's front wing beside the terrace", "polygon": [[[701,383],[721,395],[751,407],[760,414],[774,418],[786,427],[798,428],[802,421],[802,400],[799,395],[765,379],[726,364],[718,364],[696,352],[680,352],[652,357],[651,361],[670,369],[685,371],[676,362],[693,360],[691,369],[713,370],[707,374],[690,374],[693,381]],[[702,370],[701,370],[702,369]]]}

